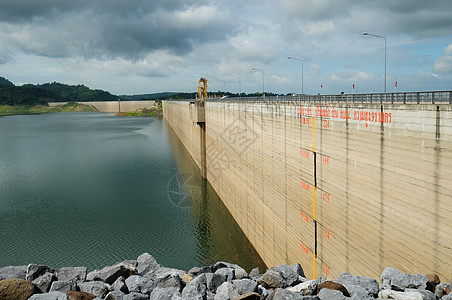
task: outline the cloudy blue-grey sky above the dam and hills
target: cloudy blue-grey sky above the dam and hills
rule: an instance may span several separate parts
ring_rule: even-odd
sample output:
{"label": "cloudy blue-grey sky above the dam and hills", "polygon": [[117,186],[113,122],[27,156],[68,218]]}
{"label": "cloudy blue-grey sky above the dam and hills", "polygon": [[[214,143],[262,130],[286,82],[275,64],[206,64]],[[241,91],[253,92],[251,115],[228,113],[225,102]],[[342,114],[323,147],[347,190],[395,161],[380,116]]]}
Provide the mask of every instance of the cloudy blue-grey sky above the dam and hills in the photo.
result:
{"label": "cloudy blue-grey sky above the dam and hills", "polygon": [[451,0],[0,0],[0,76],[116,95],[194,92],[200,77],[383,92],[385,40],[363,32],[386,38],[387,92],[452,90]]}

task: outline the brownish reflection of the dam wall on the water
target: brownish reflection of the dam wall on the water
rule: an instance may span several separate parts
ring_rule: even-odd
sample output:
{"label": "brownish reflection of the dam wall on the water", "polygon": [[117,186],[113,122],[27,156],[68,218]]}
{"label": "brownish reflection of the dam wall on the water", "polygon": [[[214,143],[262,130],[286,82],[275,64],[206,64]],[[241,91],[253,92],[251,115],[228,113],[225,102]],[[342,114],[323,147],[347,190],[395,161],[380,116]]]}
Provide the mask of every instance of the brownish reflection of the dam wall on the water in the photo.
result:
{"label": "brownish reflection of the dam wall on the water", "polygon": [[203,265],[223,260],[237,263],[248,271],[254,267],[265,270],[264,262],[215,190],[201,177],[199,168],[166,121],[165,129],[179,169],[176,181],[179,186],[184,185],[184,189],[170,193],[170,198],[191,211],[197,260]]}

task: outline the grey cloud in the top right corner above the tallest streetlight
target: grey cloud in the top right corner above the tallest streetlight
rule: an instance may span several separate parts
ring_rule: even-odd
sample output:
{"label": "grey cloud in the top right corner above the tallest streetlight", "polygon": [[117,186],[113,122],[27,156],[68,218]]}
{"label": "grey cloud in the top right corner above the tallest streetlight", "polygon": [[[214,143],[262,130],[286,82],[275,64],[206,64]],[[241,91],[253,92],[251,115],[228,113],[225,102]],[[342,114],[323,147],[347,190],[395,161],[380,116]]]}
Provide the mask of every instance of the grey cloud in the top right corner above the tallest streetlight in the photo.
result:
{"label": "grey cloud in the top right corner above the tallest streetlight", "polygon": [[414,38],[452,32],[450,0],[278,0],[282,19],[301,24],[326,21],[349,31],[375,31]]}

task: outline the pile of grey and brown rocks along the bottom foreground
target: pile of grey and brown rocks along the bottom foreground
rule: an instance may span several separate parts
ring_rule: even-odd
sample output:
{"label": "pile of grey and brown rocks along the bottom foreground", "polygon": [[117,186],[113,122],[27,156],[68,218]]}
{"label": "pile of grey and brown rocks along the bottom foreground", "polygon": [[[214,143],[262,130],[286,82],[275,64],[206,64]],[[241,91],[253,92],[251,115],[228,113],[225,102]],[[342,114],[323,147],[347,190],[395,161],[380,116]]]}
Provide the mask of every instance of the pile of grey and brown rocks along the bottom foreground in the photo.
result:
{"label": "pile of grey and brown rocks along the bottom foreground", "polygon": [[30,264],[0,268],[0,300],[226,300],[226,299],[442,299],[451,284],[435,274],[386,268],[377,280],[342,273],[334,281],[308,280],[299,264],[264,274],[218,262],[187,272],[161,266],[148,253],[87,273],[85,267],[53,269]]}

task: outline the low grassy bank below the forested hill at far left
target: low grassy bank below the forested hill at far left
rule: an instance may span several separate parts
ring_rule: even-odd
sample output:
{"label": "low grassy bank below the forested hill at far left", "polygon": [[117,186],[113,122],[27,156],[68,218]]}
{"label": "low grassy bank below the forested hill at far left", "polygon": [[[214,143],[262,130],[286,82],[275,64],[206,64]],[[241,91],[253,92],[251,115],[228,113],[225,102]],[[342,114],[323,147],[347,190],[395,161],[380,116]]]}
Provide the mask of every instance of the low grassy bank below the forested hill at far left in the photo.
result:
{"label": "low grassy bank below the forested hill at far left", "polygon": [[84,105],[75,102],[69,102],[67,104],[62,104],[54,107],[45,105],[0,105],[0,116],[81,111],[97,111],[97,109],[92,105]]}

